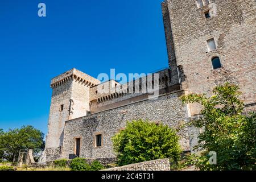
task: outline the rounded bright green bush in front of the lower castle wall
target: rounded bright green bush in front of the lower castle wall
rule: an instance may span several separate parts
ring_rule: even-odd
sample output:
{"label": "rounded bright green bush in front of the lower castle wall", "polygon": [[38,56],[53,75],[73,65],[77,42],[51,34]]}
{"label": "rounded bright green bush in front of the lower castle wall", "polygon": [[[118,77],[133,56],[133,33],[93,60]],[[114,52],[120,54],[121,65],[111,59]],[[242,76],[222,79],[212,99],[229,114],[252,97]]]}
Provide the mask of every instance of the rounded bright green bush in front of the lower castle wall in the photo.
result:
{"label": "rounded bright green bush in front of the lower castle wall", "polygon": [[113,146],[119,166],[162,158],[177,163],[181,153],[174,129],[141,119],[127,122],[126,129],[113,137]]}

